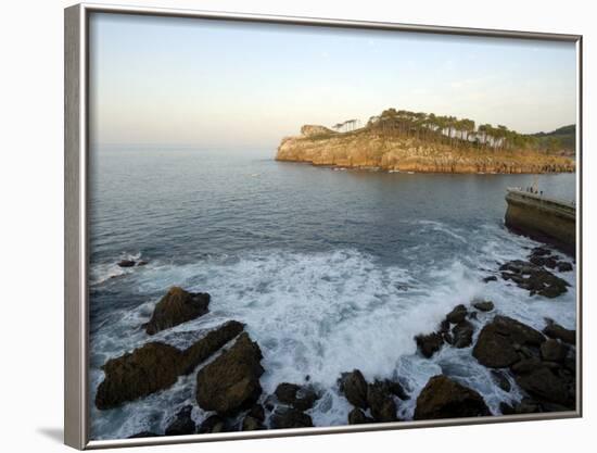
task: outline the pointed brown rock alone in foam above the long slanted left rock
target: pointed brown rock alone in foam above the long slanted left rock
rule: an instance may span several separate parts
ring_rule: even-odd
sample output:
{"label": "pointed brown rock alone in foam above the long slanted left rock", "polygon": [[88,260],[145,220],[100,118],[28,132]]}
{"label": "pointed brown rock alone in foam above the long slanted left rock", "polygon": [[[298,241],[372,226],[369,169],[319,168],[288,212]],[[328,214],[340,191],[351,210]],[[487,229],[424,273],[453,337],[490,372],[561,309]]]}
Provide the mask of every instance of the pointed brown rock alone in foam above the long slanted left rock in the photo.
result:
{"label": "pointed brown rock alone in foam above the long slanted left rock", "polygon": [[150,322],[143,327],[149,335],[154,335],[204,315],[208,305],[209,294],[206,292],[187,292],[172,287],[157,302]]}

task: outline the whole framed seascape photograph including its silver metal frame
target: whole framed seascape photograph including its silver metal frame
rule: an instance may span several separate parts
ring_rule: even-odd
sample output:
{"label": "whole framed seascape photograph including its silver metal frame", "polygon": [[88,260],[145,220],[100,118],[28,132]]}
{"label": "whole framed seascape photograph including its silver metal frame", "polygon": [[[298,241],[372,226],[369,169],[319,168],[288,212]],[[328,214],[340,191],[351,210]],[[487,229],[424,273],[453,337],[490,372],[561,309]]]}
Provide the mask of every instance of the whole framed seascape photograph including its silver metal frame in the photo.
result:
{"label": "whole framed seascape photograph including its silver metal frame", "polygon": [[582,37],[65,10],[65,442],[580,417]]}

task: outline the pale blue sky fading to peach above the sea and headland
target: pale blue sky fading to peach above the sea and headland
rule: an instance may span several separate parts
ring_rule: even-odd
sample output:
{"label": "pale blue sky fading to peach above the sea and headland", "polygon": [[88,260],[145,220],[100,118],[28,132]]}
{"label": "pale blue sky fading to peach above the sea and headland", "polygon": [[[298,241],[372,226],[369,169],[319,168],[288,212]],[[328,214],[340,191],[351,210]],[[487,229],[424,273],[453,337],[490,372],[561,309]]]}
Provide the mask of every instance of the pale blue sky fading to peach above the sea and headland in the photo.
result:
{"label": "pale blue sky fading to peach above the sea and headland", "polygon": [[572,42],[93,13],[94,144],[277,147],[384,109],[575,123]]}

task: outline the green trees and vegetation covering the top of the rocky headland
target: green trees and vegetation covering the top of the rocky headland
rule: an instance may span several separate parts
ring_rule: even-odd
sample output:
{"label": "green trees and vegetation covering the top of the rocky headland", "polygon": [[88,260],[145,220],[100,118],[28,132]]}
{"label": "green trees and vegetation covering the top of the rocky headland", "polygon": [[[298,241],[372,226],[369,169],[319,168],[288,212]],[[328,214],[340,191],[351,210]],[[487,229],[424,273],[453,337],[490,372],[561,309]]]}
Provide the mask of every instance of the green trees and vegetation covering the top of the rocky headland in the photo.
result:
{"label": "green trees and vegetation covering the top of the rocky headland", "polygon": [[539,151],[548,154],[574,151],[575,126],[566,126],[550,134],[526,135],[510,130],[504,125],[475,125],[469,118],[440,116],[433,113],[386,109],[381,115],[371,116],[361,129],[355,129],[357,119],[348,119],[332,126],[336,131],[373,131],[381,136],[401,136],[418,140],[444,143],[457,149],[490,151]]}

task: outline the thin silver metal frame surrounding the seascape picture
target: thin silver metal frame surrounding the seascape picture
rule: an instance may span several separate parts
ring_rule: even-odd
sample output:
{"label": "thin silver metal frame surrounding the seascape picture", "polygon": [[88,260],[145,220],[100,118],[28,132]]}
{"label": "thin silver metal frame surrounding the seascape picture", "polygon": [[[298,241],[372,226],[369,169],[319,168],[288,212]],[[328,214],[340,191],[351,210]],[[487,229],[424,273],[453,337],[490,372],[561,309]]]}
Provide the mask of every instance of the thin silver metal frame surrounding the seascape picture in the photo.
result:
{"label": "thin silver metal frame surrounding the seascape picture", "polygon": [[[452,418],[445,420],[399,421],[360,426],[280,429],[253,432],[226,432],[145,439],[89,440],[88,382],[88,22],[92,13],[116,13],[152,16],[195,17],[203,20],[242,21],[265,24],[316,25],[322,27],[371,30],[418,32],[460,36],[535,39],[575,42],[577,55],[577,117],[576,117],[576,410],[569,412]],[[455,425],[491,424],[500,421],[545,420],[582,416],[582,36],[547,33],[510,32],[408,25],[380,22],[339,21],[314,17],[288,17],[224,12],[191,11],[166,8],[140,8],[81,3],[64,11],[64,443],[75,449],[155,445],[166,443],[208,442],[250,438],[328,435],[336,432],[377,431]]]}

